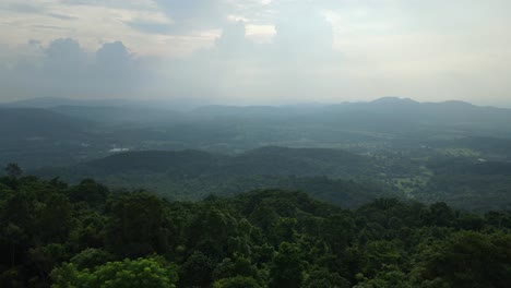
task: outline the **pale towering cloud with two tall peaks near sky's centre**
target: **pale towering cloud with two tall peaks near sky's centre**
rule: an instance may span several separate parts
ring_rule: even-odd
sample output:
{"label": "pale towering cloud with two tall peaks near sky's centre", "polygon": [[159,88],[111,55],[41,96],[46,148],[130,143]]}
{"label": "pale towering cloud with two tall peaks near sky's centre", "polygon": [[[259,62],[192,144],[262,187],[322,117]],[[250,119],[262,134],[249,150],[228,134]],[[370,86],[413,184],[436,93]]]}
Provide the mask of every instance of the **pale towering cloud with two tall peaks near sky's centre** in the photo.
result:
{"label": "pale towering cloud with two tall peaks near sky's centre", "polygon": [[171,94],[231,103],[292,101],[338,82],[330,72],[343,64],[342,55],[332,48],[332,26],[319,11],[282,14],[276,34],[264,44],[250,40],[246,25],[226,23],[212,49],[168,63],[169,83],[180,84]]}

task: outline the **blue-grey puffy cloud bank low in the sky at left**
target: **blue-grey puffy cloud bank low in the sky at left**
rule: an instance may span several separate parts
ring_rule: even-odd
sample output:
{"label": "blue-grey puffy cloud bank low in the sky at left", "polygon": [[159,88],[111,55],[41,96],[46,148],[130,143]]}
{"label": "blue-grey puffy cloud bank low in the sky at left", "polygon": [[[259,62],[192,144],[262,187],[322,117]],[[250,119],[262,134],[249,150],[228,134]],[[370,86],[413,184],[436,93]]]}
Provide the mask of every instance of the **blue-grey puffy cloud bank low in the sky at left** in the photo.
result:
{"label": "blue-grey puffy cloud bank low in the sky at left", "polygon": [[38,61],[21,60],[13,67],[0,69],[4,94],[130,97],[145,87],[144,81],[152,73],[145,67],[146,60],[135,59],[120,41],[106,43],[95,53],[88,53],[76,40],[59,38],[41,50]]}

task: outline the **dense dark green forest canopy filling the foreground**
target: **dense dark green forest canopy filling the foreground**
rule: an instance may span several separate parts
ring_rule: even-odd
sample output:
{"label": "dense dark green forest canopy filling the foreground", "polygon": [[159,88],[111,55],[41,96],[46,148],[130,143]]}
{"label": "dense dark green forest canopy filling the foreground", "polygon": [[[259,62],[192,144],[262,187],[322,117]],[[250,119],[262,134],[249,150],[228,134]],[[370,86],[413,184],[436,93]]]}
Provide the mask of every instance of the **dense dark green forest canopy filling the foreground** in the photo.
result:
{"label": "dense dark green forest canopy filling the foreground", "polygon": [[510,212],[394,199],[348,211],[280,190],[169,202],[9,171],[0,178],[0,287],[511,283]]}

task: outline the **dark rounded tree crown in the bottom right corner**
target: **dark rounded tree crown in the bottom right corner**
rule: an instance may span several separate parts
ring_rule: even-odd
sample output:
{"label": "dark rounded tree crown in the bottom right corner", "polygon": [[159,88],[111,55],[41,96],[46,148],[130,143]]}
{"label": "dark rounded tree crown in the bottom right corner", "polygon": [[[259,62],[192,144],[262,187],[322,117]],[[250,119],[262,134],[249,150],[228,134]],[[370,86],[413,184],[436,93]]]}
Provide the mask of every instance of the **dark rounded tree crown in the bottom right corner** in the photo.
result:
{"label": "dark rounded tree crown in the bottom right corner", "polygon": [[441,280],[453,288],[509,287],[511,235],[461,231],[420,253],[414,269],[423,283]]}

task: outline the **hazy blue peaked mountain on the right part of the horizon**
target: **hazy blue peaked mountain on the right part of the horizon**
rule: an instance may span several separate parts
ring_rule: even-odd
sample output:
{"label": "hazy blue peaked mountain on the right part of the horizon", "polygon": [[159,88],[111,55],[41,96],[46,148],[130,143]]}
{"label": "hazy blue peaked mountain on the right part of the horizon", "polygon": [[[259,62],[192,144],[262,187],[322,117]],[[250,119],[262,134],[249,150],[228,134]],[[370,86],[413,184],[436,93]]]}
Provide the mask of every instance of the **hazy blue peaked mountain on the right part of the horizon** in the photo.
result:
{"label": "hazy blue peaked mountain on the right part of the horizon", "polygon": [[318,119],[348,128],[408,133],[421,130],[511,137],[511,109],[479,107],[463,101],[417,103],[385,97],[371,103],[326,107]]}

